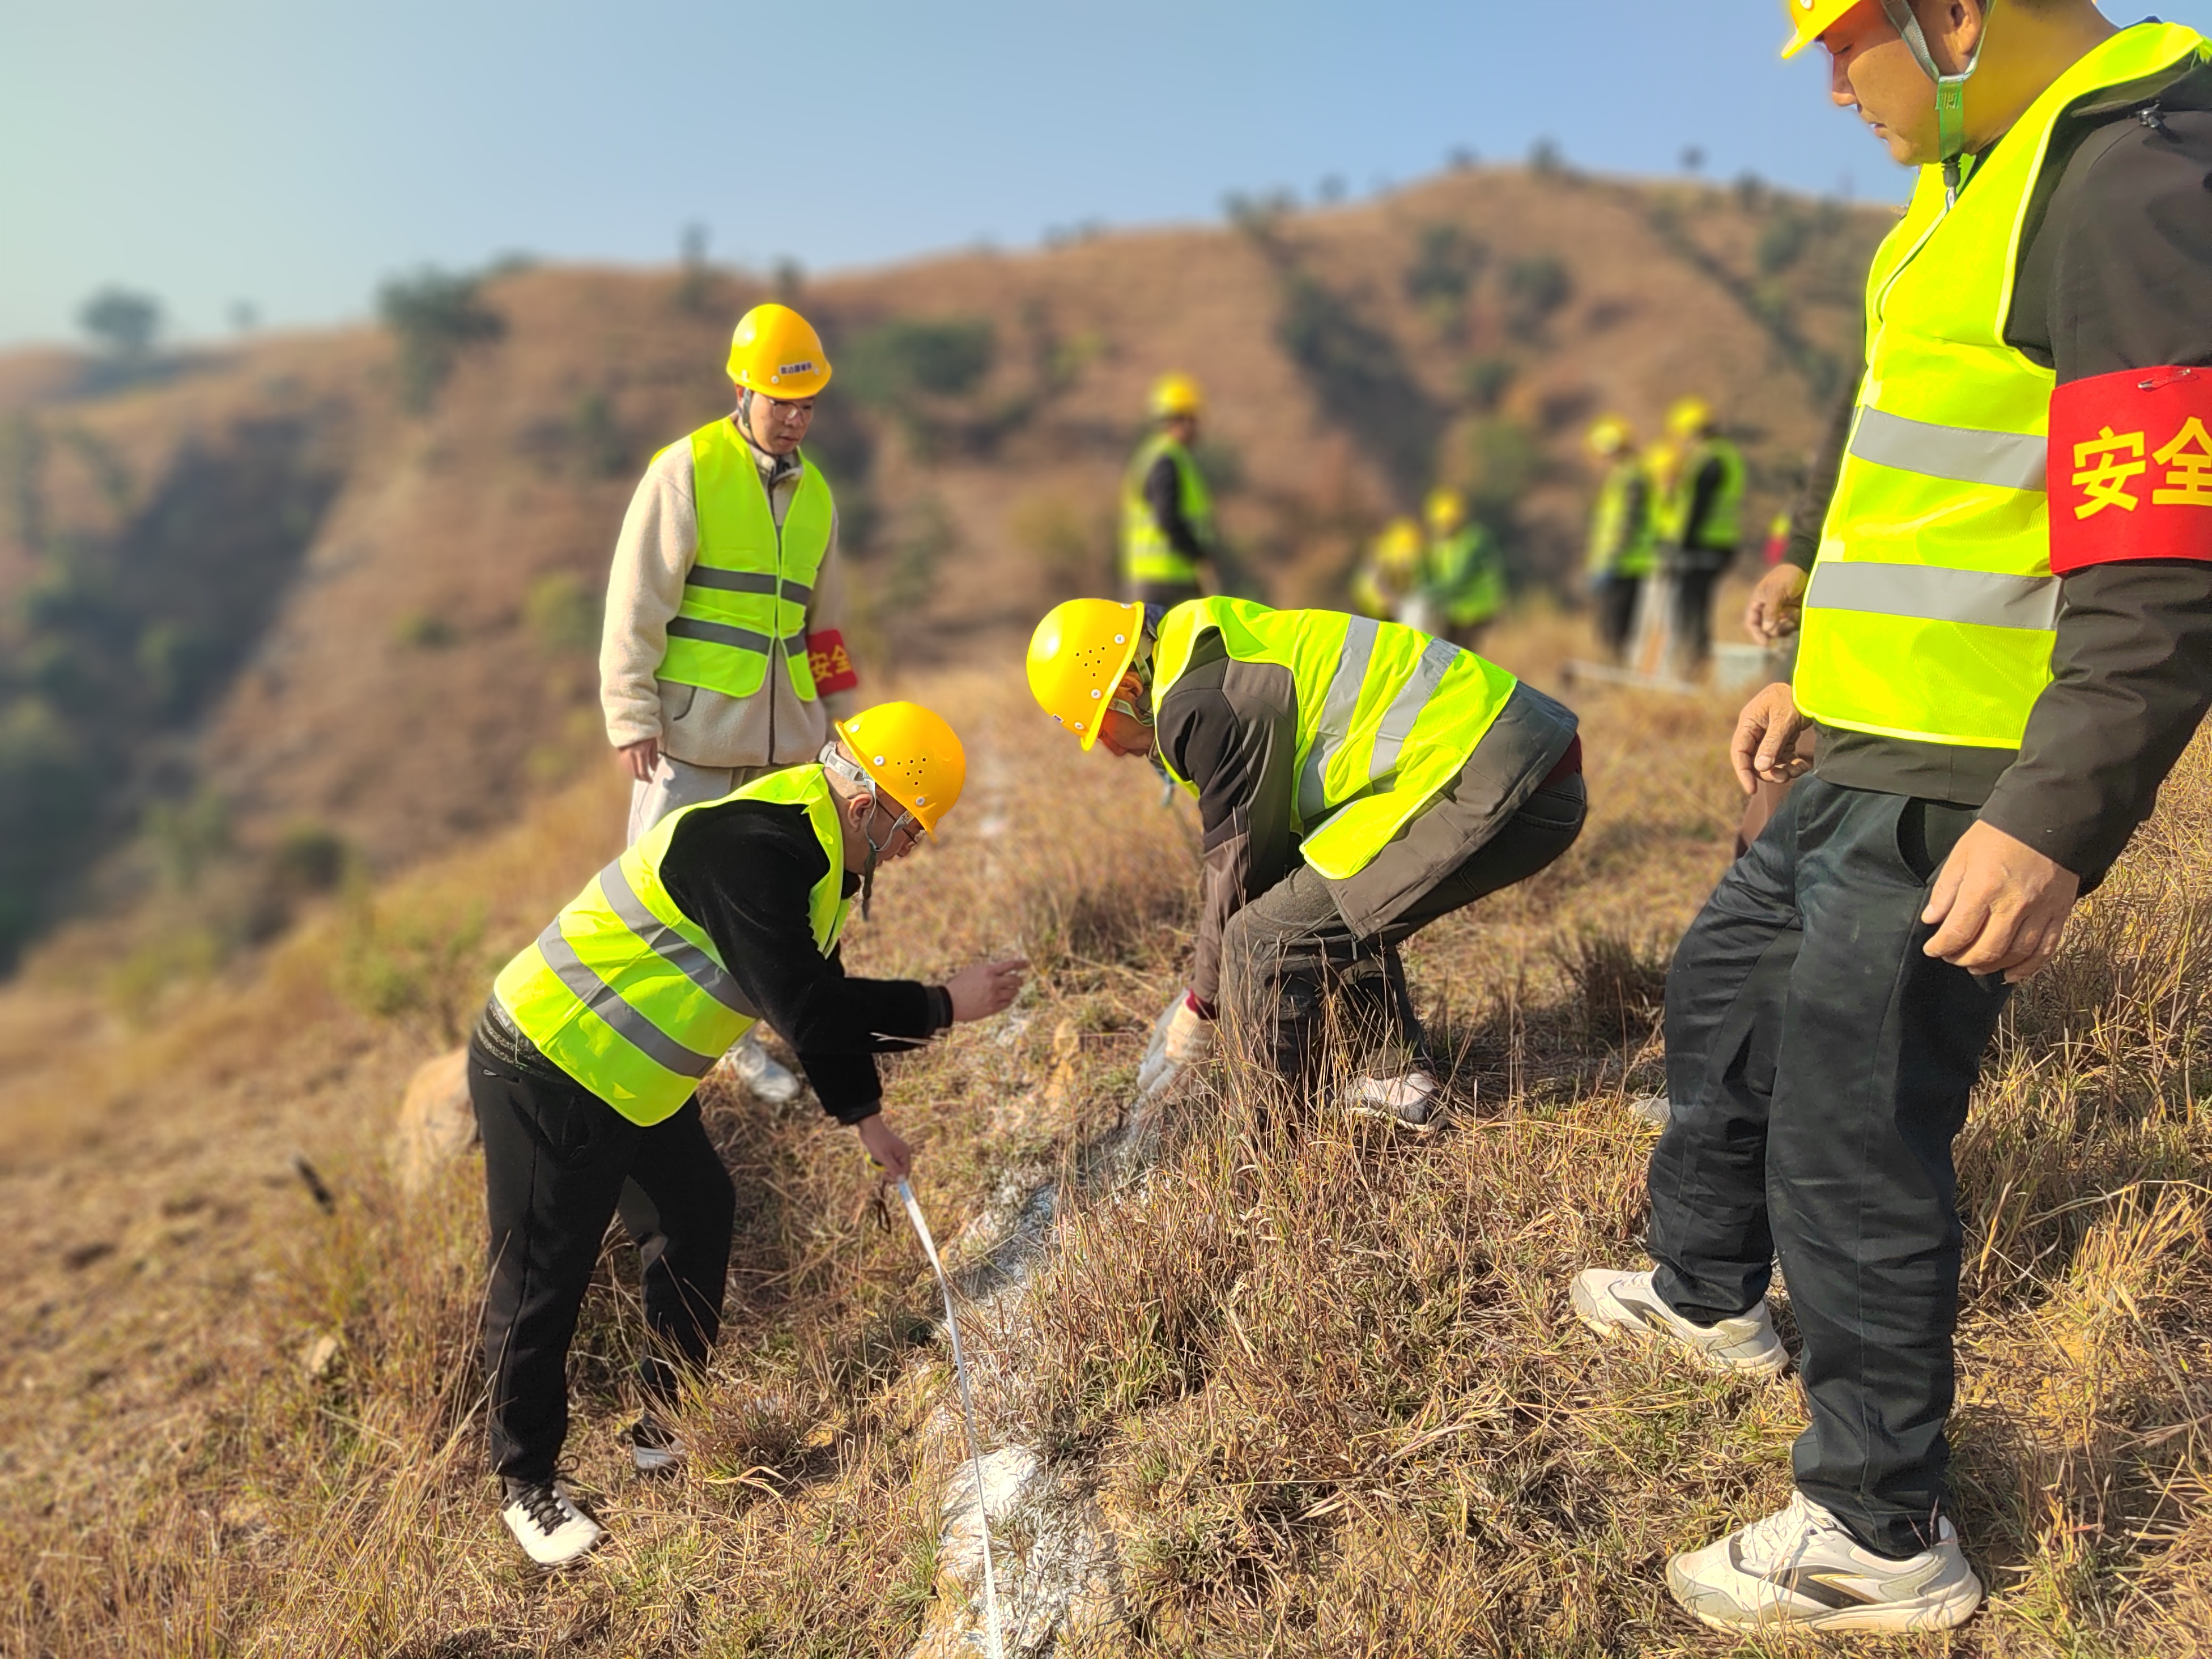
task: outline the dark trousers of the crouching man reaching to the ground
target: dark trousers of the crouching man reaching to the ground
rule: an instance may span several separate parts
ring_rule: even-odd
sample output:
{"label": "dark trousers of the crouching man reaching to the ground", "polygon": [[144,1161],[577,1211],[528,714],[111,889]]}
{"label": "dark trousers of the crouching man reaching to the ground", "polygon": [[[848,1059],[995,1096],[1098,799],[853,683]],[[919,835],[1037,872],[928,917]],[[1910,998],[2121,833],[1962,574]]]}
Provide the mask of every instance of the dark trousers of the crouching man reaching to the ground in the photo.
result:
{"label": "dark trousers of the crouching man reaching to the ground", "polygon": [[[1338,1000],[1367,1068],[1429,1064],[1398,947],[1422,927],[1544,869],[1575,845],[1588,810],[1582,774],[1535,790],[1498,834],[1376,933],[1354,933],[1312,865],[1237,911],[1221,933],[1223,1018],[1252,1055],[1301,1086],[1318,1082],[1327,1002]],[[1389,858],[1398,843],[1378,854]]]}

